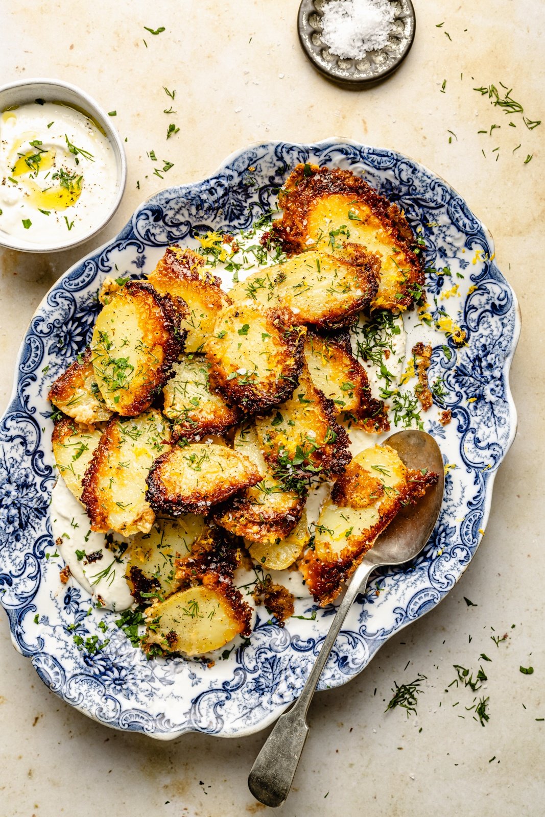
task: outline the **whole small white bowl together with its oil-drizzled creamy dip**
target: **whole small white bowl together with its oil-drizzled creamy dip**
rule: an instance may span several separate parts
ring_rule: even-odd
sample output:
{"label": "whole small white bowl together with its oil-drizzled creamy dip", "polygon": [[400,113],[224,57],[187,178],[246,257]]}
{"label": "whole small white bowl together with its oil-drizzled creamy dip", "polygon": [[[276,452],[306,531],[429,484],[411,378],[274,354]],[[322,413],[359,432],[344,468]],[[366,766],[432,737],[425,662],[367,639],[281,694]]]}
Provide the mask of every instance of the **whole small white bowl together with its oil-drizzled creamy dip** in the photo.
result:
{"label": "whole small white bowl together with its oil-drizzled creamy dip", "polygon": [[123,143],[83,91],[46,79],[0,87],[0,245],[83,243],[114,215],[126,176]]}

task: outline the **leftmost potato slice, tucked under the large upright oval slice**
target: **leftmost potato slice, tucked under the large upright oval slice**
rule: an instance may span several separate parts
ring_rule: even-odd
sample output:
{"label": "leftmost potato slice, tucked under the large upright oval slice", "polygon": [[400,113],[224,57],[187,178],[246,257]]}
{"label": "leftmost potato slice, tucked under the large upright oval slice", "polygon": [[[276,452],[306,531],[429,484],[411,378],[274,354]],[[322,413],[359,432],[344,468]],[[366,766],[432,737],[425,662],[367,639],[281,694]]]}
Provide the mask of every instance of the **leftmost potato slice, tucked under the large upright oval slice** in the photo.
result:
{"label": "leftmost potato slice, tucked under the large upright oval slice", "polygon": [[78,355],[65,373],[57,377],[47,397],[61,412],[74,417],[76,422],[92,425],[94,422],[105,422],[111,416],[96,385],[88,346],[83,355]]}

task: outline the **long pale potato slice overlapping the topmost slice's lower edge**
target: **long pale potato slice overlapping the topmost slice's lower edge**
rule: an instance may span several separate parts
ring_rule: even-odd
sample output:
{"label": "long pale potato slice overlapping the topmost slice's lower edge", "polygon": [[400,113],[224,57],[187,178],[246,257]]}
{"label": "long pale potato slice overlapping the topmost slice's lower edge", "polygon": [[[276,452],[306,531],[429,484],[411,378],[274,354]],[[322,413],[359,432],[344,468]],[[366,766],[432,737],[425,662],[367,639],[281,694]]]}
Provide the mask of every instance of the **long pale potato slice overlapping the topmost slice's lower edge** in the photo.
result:
{"label": "long pale potato slice overlapping the topmost slice's lower edge", "polygon": [[353,322],[369,306],[377,293],[378,270],[377,258],[357,244],[346,245],[342,257],[310,249],[258,270],[236,284],[230,297],[241,305],[288,306],[293,325],[331,329]]}

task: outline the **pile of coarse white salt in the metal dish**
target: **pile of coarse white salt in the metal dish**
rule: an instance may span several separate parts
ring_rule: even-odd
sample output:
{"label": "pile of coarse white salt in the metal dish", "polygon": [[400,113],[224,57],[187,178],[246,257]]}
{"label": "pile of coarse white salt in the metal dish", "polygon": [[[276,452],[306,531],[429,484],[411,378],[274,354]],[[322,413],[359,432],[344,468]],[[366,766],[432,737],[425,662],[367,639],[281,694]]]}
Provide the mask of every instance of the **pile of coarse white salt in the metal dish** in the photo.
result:
{"label": "pile of coarse white salt in the metal dish", "polygon": [[390,0],[329,0],[320,36],[332,54],[361,60],[386,45],[394,14]]}

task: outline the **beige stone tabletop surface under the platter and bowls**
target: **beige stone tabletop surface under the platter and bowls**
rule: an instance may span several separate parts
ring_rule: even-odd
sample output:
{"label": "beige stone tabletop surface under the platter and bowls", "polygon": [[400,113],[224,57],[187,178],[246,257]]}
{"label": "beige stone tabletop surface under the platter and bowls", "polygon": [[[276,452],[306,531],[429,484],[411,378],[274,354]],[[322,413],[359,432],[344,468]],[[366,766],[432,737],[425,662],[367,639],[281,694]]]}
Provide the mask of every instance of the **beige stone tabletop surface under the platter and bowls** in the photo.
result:
{"label": "beige stone tabletop surface under the platter and bowls", "polygon": [[[545,7],[542,0],[414,4],[417,35],[404,66],[382,86],[354,93],[307,63],[294,0],[0,0],[0,82],[51,76],[83,87],[117,110],[128,160],[121,207],[92,244],[43,256],[0,251],[0,408],[25,328],[58,275],[111,238],[162,184],[207,176],[255,140],[350,136],[417,158],[492,230],[498,265],[520,299],[524,328],[511,370],[519,434],[498,473],[485,538],[438,609],[392,638],[351,684],[316,697],[293,793],[277,812],[290,817],[543,814],[545,125],[529,131],[519,116],[508,127],[510,117],[472,88],[503,82],[530,118],[545,119]],[[145,25],[166,31],[153,36]],[[163,114],[171,102],[163,86],[176,89],[176,114]],[[170,122],[180,132],[166,141]],[[493,124],[501,128],[490,136]],[[152,175],[150,150],[174,163],[164,182]],[[490,636],[504,633],[496,646]],[[492,659],[484,663],[484,728],[465,709],[470,690],[449,687],[453,664],[476,670],[483,652]],[[0,653],[0,815],[266,811],[246,784],[265,734],[159,743],[108,730],[42,685],[11,648],[5,618]],[[521,664],[534,674],[521,674]],[[418,672],[427,676],[418,716],[385,713],[394,681]]]}

